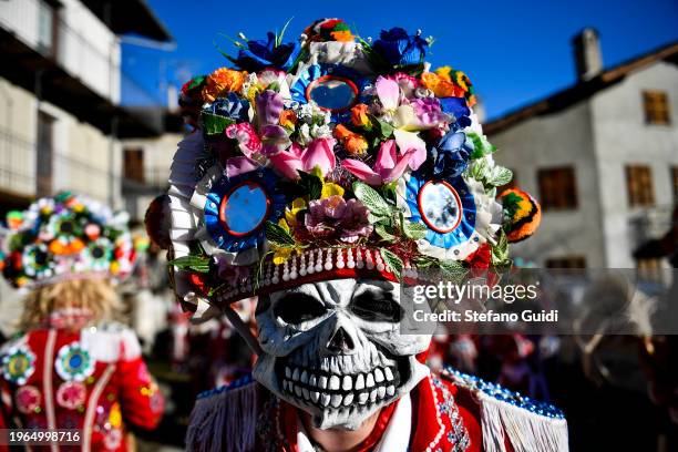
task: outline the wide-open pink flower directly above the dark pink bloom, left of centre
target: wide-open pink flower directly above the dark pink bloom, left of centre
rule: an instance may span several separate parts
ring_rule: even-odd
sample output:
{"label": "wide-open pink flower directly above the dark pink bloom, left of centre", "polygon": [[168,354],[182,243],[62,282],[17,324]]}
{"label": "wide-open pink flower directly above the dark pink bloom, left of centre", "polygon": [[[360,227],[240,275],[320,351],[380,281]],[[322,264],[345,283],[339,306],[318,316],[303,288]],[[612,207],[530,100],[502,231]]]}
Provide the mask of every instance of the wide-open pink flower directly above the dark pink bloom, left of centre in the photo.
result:
{"label": "wide-open pink flower directly above the dark pink bloom, left of centre", "polygon": [[316,138],[306,150],[294,143],[289,150],[270,155],[268,160],[285,177],[299,178],[298,171],[310,172],[316,166],[322,175],[330,173],[337,165],[335,138]]}

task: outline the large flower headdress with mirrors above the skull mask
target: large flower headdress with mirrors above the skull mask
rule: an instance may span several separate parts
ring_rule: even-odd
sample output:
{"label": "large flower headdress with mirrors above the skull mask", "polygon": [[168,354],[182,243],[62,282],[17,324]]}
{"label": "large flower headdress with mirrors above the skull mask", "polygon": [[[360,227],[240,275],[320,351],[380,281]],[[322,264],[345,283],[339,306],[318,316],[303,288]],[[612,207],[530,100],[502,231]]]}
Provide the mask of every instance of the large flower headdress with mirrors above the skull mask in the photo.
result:
{"label": "large flower headdress with mirrors above the skull mask", "polygon": [[198,130],[174,157],[164,237],[184,301],[203,312],[307,281],[510,265],[516,209],[538,204],[496,201],[511,171],[469,78],[430,71],[431,43],[401,28],[368,42],[325,19],[298,42],[236,42],[234,68],[184,85]]}

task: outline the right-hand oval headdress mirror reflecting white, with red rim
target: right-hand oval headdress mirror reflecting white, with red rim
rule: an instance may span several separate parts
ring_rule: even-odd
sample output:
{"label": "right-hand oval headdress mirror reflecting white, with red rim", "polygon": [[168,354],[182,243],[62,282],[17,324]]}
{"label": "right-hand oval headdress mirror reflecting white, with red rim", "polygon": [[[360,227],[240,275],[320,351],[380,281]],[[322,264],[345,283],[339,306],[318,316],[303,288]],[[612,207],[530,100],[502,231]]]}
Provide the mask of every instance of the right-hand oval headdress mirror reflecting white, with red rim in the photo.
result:
{"label": "right-hand oval headdress mirror reflecting white, with red rim", "polygon": [[419,212],[427,226],[436,233],[454,230],[462,218],[462,204],[456,191],[444,181],[430,181],[419,189]]}

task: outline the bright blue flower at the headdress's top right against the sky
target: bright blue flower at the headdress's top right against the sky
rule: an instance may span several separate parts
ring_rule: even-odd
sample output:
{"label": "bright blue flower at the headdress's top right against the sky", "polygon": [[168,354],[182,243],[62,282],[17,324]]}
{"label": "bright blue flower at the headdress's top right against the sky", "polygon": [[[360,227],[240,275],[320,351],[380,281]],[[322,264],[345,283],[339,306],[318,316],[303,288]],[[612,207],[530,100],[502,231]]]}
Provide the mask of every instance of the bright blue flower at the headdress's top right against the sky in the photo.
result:
{"label": "bright blue flower at the headdress's top right against the sky", "polygon": [[410,35],[404,29],[394,27],[382,30],[372,48],[394,66],[413,65],[423,63],[429,43],[420,35]]}

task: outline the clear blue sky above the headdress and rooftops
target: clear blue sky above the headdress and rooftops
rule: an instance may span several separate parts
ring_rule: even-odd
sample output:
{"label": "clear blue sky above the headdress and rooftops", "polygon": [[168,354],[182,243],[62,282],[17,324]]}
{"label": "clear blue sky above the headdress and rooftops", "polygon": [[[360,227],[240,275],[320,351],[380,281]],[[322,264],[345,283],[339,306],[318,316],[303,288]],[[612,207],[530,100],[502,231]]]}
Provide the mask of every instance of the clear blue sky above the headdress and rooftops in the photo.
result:
{"label": "clear blue sky above the headdress and rooftops", "polygon": [[[174,35],[176,50],[125,45],[124,68],[143,74],[143,84],[153,90],[161,72],[179,82],[225,65],[213,45],[219,33],[243,31],[259,39],[294,17],[292,39],[317,18],[339,17],[361,37],[394,25],[435,37],[428,60],[466,72],[490,117],[574,83],[571,39],[584,27],[598,29],[605,66],[678,41],[676,0],[147,1]],[[220,45],[235,53],[228,41]]]}

